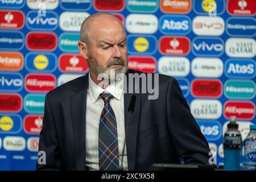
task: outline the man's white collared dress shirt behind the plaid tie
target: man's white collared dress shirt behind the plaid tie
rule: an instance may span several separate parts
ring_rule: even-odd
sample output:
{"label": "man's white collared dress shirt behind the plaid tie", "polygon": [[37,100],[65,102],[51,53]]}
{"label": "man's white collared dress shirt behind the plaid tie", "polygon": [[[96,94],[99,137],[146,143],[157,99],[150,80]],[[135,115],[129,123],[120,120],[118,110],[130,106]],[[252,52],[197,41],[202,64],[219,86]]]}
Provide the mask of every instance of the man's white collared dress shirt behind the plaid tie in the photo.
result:
{"label": "man's white collared dress shirt behind the plaid tie", "polygon": [[[118,135],[118,151],[119,151],[119,167],[123,157],[122,168],[128,169],[127,153],[125,144],[125,110],[123,100],[123,79],[109,85],[106,90],[96,85],[89,74],[89,86],[86,98],[86,167],[90,170],[98,170],[98,129],[100,125],[101,111],[104,107],[104,101],[100,97],[100,93],[108,92],[113,98],[110,100],[110,105],[117,120],[117,135]],[[124,146],[125,144],[125,146]],[[123,150],[125,147],[125,150]],[[124,152],[123,152],[124,151]],[[122,156],[123,152],[123,156]]]}

